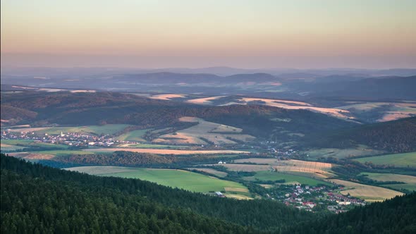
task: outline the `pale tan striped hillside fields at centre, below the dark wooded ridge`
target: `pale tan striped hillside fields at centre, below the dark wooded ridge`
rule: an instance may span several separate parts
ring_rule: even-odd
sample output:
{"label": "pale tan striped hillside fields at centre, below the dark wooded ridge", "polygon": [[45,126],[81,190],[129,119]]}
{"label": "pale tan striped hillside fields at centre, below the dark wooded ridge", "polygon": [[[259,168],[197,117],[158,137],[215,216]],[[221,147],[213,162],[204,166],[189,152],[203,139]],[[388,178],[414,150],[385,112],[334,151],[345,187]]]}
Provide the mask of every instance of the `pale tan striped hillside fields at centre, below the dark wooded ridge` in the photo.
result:
{"label": "pale tan striped hillside fields at centre, below the dark wooded ridge", "polygon": [[209,142],[214,144],[236,144],[229,138],[244,142],[255,140],[255,137],[251,135],[240,134],[241,128],[212,123],[194,117],[182,117],[179,120],[182,122],[197,122],[198,124],[179,130],[176,133],[161,135],[154,142],[162,144],[208,144]]}

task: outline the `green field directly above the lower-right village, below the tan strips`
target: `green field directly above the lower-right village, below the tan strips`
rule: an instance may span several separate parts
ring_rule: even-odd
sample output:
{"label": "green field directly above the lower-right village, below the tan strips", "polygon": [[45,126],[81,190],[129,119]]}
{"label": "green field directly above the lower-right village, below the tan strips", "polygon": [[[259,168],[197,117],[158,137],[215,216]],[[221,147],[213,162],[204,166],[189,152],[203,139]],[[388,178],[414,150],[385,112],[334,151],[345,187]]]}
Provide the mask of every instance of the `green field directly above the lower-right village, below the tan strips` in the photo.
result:
{"label": "green field directly above the lower-right village, below the tan strips", "polygon": [[302,185],[329,185],[329,183],[323,181],[323,180],[317,180],[314,178],[309,178],[307,176],[298,176],[288,173],[281,173],[276,171],[257,171],[255,176],[252,177],[254,180],[260,180],[260,181],[268,181],[268,180],[286,180],[286,183],[293,183],[297,182]]}

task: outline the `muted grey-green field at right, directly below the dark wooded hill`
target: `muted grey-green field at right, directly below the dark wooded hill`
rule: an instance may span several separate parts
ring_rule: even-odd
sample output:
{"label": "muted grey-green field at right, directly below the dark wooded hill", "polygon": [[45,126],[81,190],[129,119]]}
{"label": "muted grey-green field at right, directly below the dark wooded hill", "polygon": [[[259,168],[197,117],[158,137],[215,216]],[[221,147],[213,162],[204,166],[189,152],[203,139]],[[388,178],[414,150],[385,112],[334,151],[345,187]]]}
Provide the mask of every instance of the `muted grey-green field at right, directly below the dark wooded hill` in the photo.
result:
{"label": "muted grey-green field at right, directly below the dark wooded hill", "polygon": [[377,154],[383,154],[384,152],[371,149],[365,145],[359,145],[357,148],[353,149],[336,149],[336,148],[322,148],[322,149],[310,149],[308,151],[303,152],[307,154],[312,159],[317,159],[319,157],[334,157],[337,159],[343,159],[346,157],[354,157],[354,156],[371,156]]}

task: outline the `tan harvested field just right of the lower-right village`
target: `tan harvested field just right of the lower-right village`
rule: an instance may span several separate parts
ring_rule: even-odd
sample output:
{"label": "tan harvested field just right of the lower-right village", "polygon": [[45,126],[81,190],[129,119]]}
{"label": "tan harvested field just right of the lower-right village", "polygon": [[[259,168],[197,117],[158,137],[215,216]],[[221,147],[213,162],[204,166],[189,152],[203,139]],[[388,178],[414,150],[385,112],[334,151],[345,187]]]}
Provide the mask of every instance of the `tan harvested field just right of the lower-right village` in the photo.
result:
{"label": "tan harvested field just right of the lower-right village", "polygon": [[353,183],[345,180],[330,180],[338,185],[345,186],[345,190],[342,190],[343,195],[348,193],[353,197],[360,197],[367,202],[378,202],[392,197],[403,195],[403,192],[397,192],[389,190],[384,187],[376,187],[372,185],[362,185],[359,183]]}

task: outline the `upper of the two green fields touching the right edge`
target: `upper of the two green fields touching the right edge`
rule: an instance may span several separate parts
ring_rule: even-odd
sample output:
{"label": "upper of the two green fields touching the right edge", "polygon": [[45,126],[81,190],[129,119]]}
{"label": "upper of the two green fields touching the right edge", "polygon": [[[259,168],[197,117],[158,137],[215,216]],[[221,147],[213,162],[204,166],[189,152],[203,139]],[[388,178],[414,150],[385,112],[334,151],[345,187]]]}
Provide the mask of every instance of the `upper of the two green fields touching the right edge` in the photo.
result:
{"label": "upper of the two green fields touching the right edge", "polygon": [[372,162],[376,165],[394,165],[403,167],[416,167],[416,152],[405,154],[386,154],[381,156],[355,159],[360,163]]}

